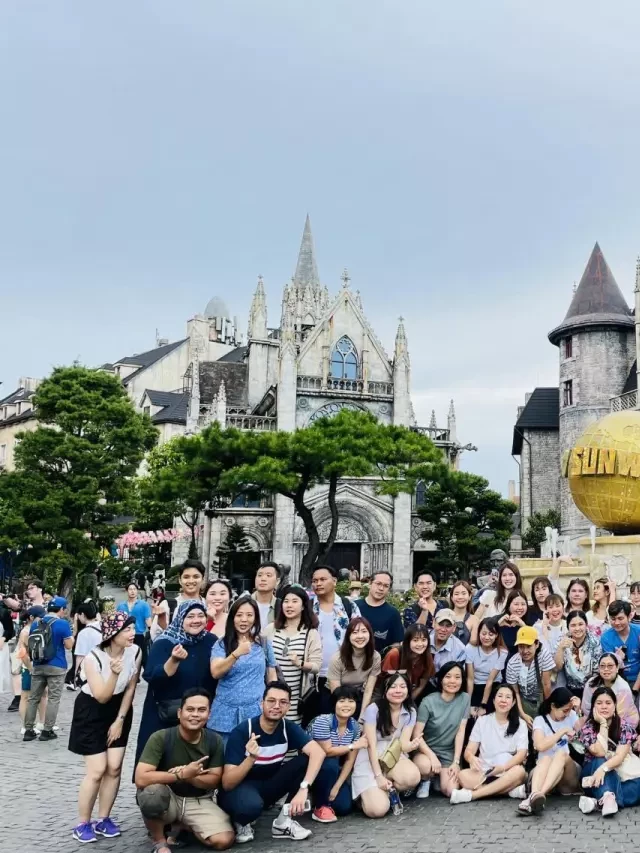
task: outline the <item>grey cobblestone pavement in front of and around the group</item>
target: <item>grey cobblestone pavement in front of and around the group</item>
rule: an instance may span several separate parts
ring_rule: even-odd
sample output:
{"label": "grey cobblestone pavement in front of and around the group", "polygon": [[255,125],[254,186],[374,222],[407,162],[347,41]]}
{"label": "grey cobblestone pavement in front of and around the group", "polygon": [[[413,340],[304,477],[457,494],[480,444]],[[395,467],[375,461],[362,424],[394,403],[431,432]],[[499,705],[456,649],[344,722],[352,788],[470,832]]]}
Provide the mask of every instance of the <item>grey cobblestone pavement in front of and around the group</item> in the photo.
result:
{"label": "grey cobblestone pavement in front of and around the group", "polygon": [[[136,698],[136,717],[142,707],[144,683]],[[17,714],[7,714],[10,697],[0,697],[0,850],[32,851],[46,845],[48,853],[67,853],[79,845],[72,839],[76,823],[76,791],[82,778],[83,763],[67,751],[67,737],[75,694],[65,690],[59,715],[59,739],[52,743],[24,743],[20,737]],[[127,751],[123,783],[114,817],[124,834],[113,840],[101,839],[96,849],[103,853],[148,853],[147,838],[134,801],[130,783],[134,750]],[[11,780],[11,782],[9,782]],[[541,819],[519,818],[511,799],[451,806],[441,797],[410,801],[400,817],[371,821],[355,814],[331,826],[304,823],[313,828],[313,838],[303,843],[311,851],[320,842],[324,853],[617,853],[635,847],[640,833],[640,807],[627,809],[603,820],[599,815],[582,815],[576,797],[558,797],[549,801]],[[46,831],[43,829],[46,827]],[[202,849],[198,845],[189,850]],[[270,836],[270,818],[259,822],[256,840],[246,853],[292,850],[290,842],[274,841]],[[296,849],[297,853],[297,849]]]}

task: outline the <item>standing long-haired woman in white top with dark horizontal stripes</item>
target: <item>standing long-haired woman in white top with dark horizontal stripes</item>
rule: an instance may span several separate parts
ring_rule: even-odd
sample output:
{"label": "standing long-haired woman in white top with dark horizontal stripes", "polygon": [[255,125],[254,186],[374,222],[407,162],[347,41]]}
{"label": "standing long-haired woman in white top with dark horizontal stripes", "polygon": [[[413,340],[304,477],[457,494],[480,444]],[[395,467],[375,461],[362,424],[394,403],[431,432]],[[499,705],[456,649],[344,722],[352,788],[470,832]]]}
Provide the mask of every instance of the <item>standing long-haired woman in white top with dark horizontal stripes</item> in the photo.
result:
{"label": "standing long-haired woman in white top with dark horizontal stripes", "polygon": [[303,587],[291,584],[283,590],[280,612],[264,631],[273,646],[276,665],[291,688],[286,718],[298,725],[303,716],[300,698],[313,685],[322,664],[322,642],[317,627],[309,596]]}

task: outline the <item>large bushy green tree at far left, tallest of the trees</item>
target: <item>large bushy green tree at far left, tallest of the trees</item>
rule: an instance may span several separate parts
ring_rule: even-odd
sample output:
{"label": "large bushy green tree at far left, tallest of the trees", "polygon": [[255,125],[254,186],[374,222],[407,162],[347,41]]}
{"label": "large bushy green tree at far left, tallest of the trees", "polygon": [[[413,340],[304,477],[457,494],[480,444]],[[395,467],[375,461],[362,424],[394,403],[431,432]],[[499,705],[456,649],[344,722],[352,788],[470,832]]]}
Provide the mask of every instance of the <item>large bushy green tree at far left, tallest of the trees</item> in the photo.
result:
{"label": "large bushy green tree at far left, tallest of the trees", "polygon": [[130,510],[157,432],[116,377],[78,365],[56,368],[34,404],[40,425],[0,475],[0,547],[32,545],[47,584],[69,595],[113,541],[114,516]]}

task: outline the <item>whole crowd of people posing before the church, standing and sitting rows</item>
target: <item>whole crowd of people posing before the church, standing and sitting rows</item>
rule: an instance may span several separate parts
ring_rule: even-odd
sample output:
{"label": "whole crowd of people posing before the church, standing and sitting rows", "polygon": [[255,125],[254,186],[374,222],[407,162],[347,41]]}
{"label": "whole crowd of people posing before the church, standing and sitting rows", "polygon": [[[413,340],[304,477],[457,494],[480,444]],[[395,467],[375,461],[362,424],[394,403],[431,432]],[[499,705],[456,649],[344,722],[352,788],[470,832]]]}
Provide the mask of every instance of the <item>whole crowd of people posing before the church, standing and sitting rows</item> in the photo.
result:
{"label": "whole crowd of people posing before the church, standing and sitting rows", "polygon": [[[640,803],[640,584],[626,601],[606,578],[593,591],[574,579],[565,597],[559,562],[530,600],[506,562],[475,608],[468,583],[440,599],[425,571],[400,612],[385,571],[353,599],[333,568],[317,567],[306,590],[265,563],[253,594],[235,597],[187,560],[175,609],[161,588],[146,601],[131,583],[116,610],[85,602],[73,625],[66,600],[33,582],[9,710],[24,741],[55,740],[65,683],[76,691],[81,843],[121,833],[112,810],[141,679],[133,782],[154,853],[183,831],[219,850],[250,842],[276,804],[273,837],[295,841],[311,835],[296,820],[306,812],[380,818],[412,796],[508,796],[528,817],[574,793],[583,813],[611,816]],[[13,606],[0,606],[0,653]]]}

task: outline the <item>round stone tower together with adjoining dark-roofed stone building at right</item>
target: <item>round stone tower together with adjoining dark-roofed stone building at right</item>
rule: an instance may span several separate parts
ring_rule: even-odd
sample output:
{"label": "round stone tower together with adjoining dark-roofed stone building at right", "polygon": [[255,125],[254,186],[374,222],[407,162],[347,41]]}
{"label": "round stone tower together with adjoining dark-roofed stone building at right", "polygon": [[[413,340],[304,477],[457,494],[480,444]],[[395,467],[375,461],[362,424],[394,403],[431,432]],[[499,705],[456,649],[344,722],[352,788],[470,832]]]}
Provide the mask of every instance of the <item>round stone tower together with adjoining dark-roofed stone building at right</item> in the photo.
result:
{"label": "round stone tower together with adjoining dark-roofed stone building at right", "polygon": [[551,389],[537,388],[518,411],[513,452],[520,456],[522,531],[532,513],[557,509],[564,546],[575,553],[590,522],[561,476],[562,458],[589,424],[616,406],[636,406],[639,299],[640,264],[634,319],[596,243],[567,315],[549,333],[550,342],[558,347],[558,397],[551,406]]}

